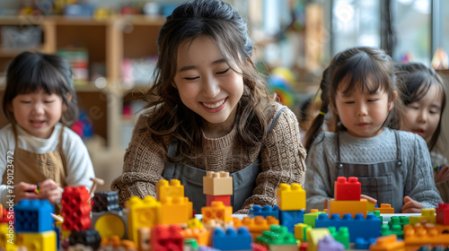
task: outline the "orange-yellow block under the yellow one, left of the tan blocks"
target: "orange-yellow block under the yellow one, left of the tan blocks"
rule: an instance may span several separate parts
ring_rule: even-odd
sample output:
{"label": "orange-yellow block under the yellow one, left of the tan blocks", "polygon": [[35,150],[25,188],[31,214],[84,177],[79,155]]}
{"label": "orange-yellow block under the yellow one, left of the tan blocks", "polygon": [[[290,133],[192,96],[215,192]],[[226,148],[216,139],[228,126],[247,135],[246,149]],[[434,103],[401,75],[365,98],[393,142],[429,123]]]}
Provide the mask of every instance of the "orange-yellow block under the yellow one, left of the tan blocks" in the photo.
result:
{"label": "orange-yellow block under the yellow one, left of the tan blocks", "polygon": [[192,217],[193,205],[189,197],[163,197],[161,199],[162,224],[187,223]]}

